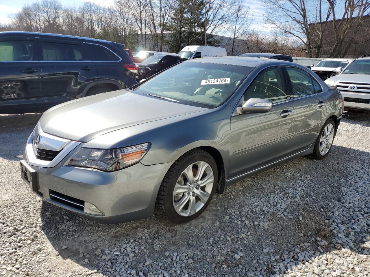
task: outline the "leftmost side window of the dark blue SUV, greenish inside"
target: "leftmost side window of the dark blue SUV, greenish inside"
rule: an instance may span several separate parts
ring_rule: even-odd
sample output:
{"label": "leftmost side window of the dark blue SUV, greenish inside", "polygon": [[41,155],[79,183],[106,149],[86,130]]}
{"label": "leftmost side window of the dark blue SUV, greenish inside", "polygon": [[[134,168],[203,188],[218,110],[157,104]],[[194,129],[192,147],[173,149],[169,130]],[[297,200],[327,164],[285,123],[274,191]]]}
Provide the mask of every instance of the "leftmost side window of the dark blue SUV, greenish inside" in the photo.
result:
{"label": "leftmost side window of the dark blue SUV, greenish inside", "polygon": [[0,41],[0,61],[32,61],[33,41]]}

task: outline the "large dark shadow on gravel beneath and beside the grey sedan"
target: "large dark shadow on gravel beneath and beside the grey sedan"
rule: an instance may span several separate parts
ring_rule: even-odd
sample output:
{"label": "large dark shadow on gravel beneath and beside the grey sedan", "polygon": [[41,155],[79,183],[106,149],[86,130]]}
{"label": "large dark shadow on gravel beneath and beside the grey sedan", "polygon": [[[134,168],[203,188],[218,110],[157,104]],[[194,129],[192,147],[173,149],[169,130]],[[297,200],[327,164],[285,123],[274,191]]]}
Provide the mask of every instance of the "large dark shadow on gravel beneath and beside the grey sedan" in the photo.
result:
{"label": "large dark shadow on gravel beneath and beside the grey sedan", "polygon": [[155,217],[104,225],[43,202],[41,228],[63,259],[106,276],[122,264],[125,270],[138,270],[148,261],[157,266],[169,262],[172,254],[167,257],[166,252],[193,257],[193,274],[203,268],[208,268],[207,276],[221,274],[223,265],[233,270],[242,265],[246,270],[259,267],[269,276],[273,263],[291,261],[294,269],[334,249],[359,249],[360,233],[348,235],[351,244],[340,241],[333,229],[349,224],[336,218],[347,207],[346,180],[353,170],[369,166],[369,156],[334,145],[325,160],[302,157],[279,165],[215,195],[203,215],[182,225]]}

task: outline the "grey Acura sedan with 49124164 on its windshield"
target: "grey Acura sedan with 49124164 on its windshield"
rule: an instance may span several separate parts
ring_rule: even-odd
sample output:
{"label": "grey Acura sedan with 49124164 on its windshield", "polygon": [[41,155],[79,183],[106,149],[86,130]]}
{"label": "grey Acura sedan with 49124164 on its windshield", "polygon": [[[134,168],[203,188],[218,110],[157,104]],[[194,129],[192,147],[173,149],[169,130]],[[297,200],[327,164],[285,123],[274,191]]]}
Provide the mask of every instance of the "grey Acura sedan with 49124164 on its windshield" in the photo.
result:
{"label": "grey Acura sedan with 49124164 on its windshield", "polygon": [[192,59],[49,109],[28,138],[21,176],[45,201],[96,221],[156,212],[184,223],[249,175],[325,158],[342,112],[339,91],[304,66]]}

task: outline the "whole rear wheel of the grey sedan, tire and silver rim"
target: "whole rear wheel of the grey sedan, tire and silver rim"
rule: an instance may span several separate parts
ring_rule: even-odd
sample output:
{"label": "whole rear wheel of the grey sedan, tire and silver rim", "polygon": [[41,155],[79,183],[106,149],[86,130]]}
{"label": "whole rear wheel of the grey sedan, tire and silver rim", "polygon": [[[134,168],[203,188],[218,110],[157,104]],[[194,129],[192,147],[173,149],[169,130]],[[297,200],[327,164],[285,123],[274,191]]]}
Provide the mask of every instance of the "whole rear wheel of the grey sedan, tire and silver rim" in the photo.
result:
{"label": "whole rear wheel of the grey sedan, tire and silver rim", "polygon": [[[330,129],[329,136],[326,135],[328,128]],[[324,123],[324,126],[322,127],[320,131],[319,136],[317,137],[315,146],[313,148],[313,153],[310,155],[310,157],[315,160],[322,160],[323,158],[326,158],[326,156],[329,155],[330,150],[332,150],[335,135],[336,135],[336,129],[335,129],[334,120],[333,119],[326,120],[326,122]],[[330,143],[330,140],[331,140],[331,143]]]}

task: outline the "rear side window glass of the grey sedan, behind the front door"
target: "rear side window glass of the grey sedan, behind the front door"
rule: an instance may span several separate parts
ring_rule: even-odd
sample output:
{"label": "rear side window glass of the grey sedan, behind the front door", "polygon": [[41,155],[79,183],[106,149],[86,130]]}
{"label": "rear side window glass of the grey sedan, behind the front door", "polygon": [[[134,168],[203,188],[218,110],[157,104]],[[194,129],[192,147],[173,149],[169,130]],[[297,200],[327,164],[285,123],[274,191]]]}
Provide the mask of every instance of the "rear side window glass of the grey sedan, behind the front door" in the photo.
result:
{"label": "rear side window glass of the grey sedan, behind the front door", "polygon": [[286,68],[290,83],[292,84],[292,98],[311,95],[322,92],[321,86],[316,80],[312,79],[309,73],[299,68]]}

